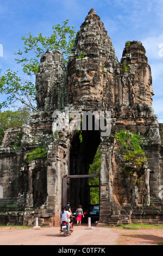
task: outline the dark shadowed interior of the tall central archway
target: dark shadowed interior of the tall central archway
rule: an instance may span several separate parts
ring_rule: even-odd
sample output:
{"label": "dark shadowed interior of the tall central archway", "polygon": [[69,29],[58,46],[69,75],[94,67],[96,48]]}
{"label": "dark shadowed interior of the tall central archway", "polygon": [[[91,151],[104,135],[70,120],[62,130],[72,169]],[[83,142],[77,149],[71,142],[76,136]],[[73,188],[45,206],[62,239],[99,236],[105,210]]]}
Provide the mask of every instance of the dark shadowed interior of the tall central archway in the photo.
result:
{"label": "dark shadowed interior of the tall central archway", "polygon": [[[71,142],[70,173],[69,175],[88,175],[90,164],[96,155],[101,143],[99,131],[82,131],[82,143],[79,134],[74,135]],[[70,179],[70,205],[75,211],[79,205],[83,209],[90,204],[89,178]]]}

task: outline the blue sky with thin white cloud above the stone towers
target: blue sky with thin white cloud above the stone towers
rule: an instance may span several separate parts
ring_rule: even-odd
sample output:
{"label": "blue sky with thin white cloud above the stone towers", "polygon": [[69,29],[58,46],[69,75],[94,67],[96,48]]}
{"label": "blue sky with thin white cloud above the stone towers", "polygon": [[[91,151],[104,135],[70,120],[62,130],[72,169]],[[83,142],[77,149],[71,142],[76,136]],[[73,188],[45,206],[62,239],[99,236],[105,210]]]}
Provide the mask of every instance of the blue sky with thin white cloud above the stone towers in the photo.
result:
{"label": "blue sky with thin white cloud above the stone towers", "polygon": [[78,31],[91,8],[101,17],[119,61],[126,41],[139,40],[145,46],[152,69],[153,107],[163,123],[162,0],[0,0],[0,69],[20,70],[14,52],[22,49],[22,36],[50,35],[52,26],[66,19]]}

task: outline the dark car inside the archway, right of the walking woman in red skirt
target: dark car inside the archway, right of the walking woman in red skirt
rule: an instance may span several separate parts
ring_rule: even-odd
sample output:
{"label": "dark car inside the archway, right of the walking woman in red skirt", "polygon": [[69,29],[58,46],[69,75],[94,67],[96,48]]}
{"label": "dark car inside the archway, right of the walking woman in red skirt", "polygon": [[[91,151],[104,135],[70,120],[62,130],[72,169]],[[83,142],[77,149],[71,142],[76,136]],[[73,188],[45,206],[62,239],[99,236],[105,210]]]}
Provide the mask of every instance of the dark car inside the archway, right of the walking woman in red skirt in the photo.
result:
{"label": "dark car inside the archway, right of the walking woman in red skirt", "polygon": [[91,218],[91,222],[99,221],[99,204],[89,204],[84,211],[85,222]]}

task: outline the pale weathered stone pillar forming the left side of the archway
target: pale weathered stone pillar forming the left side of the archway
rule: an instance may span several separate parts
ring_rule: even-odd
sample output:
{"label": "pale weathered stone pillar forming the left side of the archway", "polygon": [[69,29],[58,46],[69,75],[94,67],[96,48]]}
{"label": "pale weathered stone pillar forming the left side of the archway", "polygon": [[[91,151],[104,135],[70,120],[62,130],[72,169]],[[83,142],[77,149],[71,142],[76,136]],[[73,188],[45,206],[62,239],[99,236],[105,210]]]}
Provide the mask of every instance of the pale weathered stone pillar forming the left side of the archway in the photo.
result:
{"label": "pale weathered stone pillar forming the left side of the archway", "polygon": [[[63,147],[62,147],[63,146]],[[68,175],[68,140],[54,139],[49,146],[47,166],[47,210],[55,213],[54,223],[59,225],[62,203],[62,178]]]}

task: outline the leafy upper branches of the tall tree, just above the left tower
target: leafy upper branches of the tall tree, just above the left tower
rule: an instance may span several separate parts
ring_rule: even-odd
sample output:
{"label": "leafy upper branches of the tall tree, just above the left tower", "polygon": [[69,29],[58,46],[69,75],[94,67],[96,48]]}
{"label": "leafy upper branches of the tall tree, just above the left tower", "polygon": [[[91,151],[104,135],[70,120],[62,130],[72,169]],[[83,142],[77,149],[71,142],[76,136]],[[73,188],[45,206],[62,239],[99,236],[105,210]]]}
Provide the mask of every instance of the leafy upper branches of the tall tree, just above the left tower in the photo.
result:
{"label": "leafy upper branches of the tall tree, just above the left tower", "polygon": [[[67,63],[76,34],[76,30],[73,26],[67,26],[68,21],[69,20],[63,21],[62,26],[60,24],[53,26],[53,33],[51,36],[43,36],[42,33],[40,33],[38,36],[33,36],[31,32],[29,32],[29,36],[27,38],[22,36],[24,50],[21,51],[19,49],[18,52],[15,53],[20,57],[16,58],[15,60],[17,63],[22,64],[24,73],[27,75],[37,74],[39,68],[39,58],[48,50],[59,50],[65,58],[65,63]],[[30,51],[34,52],[34,58],[29,59],[26,56],[26,54]]]}

